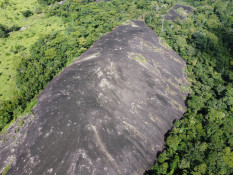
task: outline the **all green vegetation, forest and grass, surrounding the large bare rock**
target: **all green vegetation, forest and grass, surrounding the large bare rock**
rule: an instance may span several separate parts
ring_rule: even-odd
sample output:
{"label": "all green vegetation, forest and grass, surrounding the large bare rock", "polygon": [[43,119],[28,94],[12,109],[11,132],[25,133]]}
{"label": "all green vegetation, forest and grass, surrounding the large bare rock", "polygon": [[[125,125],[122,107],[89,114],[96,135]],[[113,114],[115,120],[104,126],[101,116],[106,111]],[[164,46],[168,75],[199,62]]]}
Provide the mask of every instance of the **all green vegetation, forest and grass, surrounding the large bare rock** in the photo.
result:
{"label": "all green vegetation, forest and grass, surrounding the large bare rock", "polygon": [[[145,174],[233,174],[231,0],[58,2],[0,2],[0,130],[31,109],[48,82],[96,40],[128,20],[143,20],[186,61],[190,83],[187,110]],[[185,19],[165,19],[175,4],[193,12],[178,8]]]}

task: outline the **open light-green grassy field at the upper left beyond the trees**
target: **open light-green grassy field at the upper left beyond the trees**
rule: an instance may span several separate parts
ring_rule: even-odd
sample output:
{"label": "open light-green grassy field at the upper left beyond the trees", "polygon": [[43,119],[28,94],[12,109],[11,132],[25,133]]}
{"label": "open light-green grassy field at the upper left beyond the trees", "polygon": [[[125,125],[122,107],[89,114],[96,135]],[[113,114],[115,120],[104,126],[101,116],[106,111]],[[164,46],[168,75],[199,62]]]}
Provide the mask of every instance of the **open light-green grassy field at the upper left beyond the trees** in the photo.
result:
{"label": "open light-green grassy field at the upper left beyond the trees", "polygon": [[[9,100],[17,93],[15,83],[16,65],[20,55],[29,53],[29,49],[40,36],[63,31],[65,26],[60,17],[46,17],[37,13],[40,5],[37,0],[9,0],[0,10],[0,24],[7,27],[19,26],[21,30],[0,38],[0,100]],[[22,12],[31,11],[30,17]]]}

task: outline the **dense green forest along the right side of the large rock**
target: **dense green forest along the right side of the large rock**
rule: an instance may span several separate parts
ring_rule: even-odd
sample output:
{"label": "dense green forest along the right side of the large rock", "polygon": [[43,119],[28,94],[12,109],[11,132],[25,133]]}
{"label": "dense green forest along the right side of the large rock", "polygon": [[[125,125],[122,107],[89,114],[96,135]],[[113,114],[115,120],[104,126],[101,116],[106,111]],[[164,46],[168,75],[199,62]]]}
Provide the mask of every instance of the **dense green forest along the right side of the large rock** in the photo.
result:
{"label": "dense green forest along the right side of the large rock", "polygon": [[191,82],[186,113],[175,122],[150,174],[233,174],[233,4],[183,1],[196,7],[183,21],[162,24],[163,12],[146,16],[147,24],[186,60]]}

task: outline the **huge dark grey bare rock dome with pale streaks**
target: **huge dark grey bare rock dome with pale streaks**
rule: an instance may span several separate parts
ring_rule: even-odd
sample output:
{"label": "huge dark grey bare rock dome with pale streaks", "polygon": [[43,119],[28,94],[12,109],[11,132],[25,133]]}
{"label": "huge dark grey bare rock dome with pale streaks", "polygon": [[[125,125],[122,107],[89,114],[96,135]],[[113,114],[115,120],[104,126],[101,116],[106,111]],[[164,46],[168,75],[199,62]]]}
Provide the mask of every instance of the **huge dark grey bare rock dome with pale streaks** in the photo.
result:
{"label": "huge dark grey bare rock dome with pale streaks", "polygon": [[143,174],[185,111],[185,68],[144,22],[117,27],[48,84],[17,136],[9,128],[0,170]]}

